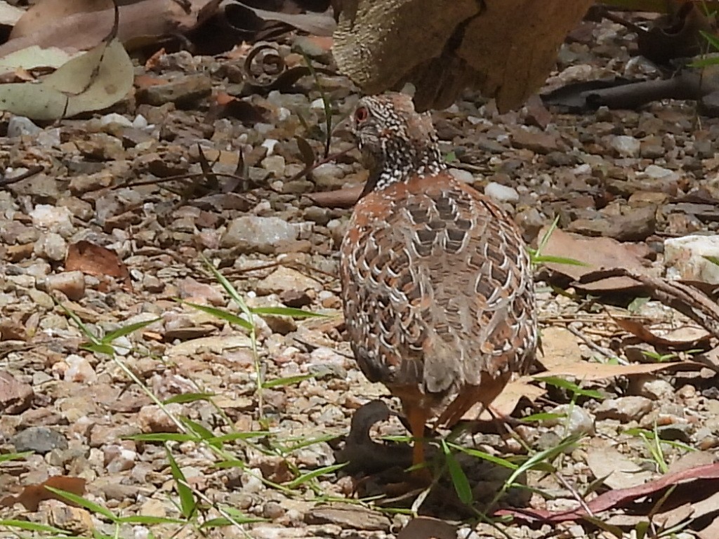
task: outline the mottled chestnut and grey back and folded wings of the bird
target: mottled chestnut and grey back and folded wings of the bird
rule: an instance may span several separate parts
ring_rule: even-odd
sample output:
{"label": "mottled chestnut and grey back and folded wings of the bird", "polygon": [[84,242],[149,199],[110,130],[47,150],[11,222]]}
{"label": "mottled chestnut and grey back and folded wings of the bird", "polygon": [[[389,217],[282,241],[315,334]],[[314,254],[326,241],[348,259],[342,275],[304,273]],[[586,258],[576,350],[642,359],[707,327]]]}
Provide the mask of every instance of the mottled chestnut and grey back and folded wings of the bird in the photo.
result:
{"label": "mottled chestnut and grey back and folded wings of the bird", "polygon": [[536,340],[516,226],[448,175],[372,193],[342,245],[345,318],[372,381],[446,393],[525,368]]}

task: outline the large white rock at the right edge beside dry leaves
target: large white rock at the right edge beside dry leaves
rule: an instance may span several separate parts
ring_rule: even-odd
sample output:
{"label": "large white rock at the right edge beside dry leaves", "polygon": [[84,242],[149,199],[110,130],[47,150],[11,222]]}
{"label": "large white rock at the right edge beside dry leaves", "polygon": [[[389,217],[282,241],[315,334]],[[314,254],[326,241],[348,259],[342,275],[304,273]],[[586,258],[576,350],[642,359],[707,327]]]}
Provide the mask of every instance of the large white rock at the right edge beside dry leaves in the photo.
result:
{"label": "large white rock at the right edge beside dry leaves", "polygon": [[664,240],[664,266],[669,279],[719,285],[719,266],[705,257],[719,259],[719,236],[694,234]]}

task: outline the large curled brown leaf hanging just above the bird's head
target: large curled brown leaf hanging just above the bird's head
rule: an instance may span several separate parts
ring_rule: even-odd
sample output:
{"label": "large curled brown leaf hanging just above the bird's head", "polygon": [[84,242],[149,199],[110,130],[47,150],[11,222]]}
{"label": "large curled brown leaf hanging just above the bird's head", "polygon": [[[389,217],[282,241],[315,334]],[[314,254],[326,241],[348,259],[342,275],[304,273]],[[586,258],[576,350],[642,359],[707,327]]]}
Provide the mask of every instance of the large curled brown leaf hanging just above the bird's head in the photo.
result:
{"label": "large curled brown leaf hanging just above the bird's head", "polygon": [[342,10],[333,53],[367,93],[411,82],[418,109],[442,109],[474,87],[506,111],[544,83],[564,37],[592,3],[360,0],[356,17]]}

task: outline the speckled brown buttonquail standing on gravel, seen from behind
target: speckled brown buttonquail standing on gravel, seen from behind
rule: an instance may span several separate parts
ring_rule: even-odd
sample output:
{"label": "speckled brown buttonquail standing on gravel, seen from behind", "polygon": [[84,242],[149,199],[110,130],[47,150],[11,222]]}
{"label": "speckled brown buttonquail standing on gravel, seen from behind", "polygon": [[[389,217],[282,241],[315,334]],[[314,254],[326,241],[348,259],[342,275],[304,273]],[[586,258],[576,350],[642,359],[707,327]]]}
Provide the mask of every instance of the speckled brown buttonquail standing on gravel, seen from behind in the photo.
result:
{"label": "speckled brown buttonquail standing on gravel, seen from behind", "polygon": [[512,219],[446,170],[429,114],[369,96],[354,134],[370,170],[341,248],[354,356],[399,397],[424,461],[426,422],[488,406],[536,348],[530,259]]}

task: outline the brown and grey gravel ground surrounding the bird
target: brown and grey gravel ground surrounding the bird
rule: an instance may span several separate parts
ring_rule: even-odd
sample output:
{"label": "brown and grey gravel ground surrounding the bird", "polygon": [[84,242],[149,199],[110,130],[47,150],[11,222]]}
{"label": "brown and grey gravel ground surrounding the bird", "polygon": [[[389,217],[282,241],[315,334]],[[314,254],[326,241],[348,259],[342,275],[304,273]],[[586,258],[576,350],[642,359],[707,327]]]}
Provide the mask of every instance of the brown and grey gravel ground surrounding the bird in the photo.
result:
{"label": "brown and grey gravel ground surrounding the bird", "polygon": [[[630,61],[622,27],[596,24],[591,35],[587,43],[564,45],[547,88],[637,70],[652,74]],[[329,62],[321,47],[298,40],[294,48],[279,47],[289,66],[303,61],[298,47],[316,65]],[[87,499],[117,515],[192,521],[198,515],[183,517],[178,507],[162,443],[127,436],[199,433],[194,425],[202,425],[216,436],[256,434],[227,441],[221,451],[219,443],[190,437],[168,443],[201,504],[200,516],[219,517],[217,507],[231,507],[262,519],[245,531],[209,529],[209,537],[395,537],[411,520],[408,512],[345,500],[356,501],[355,491],[381,490],[383,473],[373,476],[362,466],[353,474],[329,469],[292,483],[336,464],[359,407],[377,398],[390,403],[386,390],[358,371],[343,340],[337,247],[350,210],[317,206],[307,196],[358,185],[366,172],[349,137],[335,134],[330,153],[346,153],[301,173],[304,144],[295,137],[321,155],[326,132],[324,103],[312,77],[283,91],[255,92],[244,98],[251,106],[211,106],[211,91],[248,93],[237,75],[241,63],[187,52],[164,55],[150,72],[137,68],[159,83],[139,84],[134,98],[111,113],[42,127],[1,117],[6,180],[33,167],[42,171],[0,191],[0,453],[34,452],[0,463],[0,492],[17,495],[51,476],[72,476],[85,480]],[[336,126],[358,92],[340,76],[321,80]],[[576,116],[550,114],[535,101],[498,114],[493,103],[467,93],[434,119],[454,157],[452,172],[507,206],[528,241],[536,242],[541,228],[558,217],[564,231],[632,246],[643,267],[661,275],[665,239],[717,228],[719,122],[697,116],[693,103]],[[202,173],[207,162],[214,175]],[[237,179],[243,169],[249,181]],[[255,354],[249,331],[189,305],[242,313],[203,257],[251,308],[283,306],[326,316],[255,315]],[[587,361],[646,363],[643,351],[654,359],[664,354],[632,340],[610,318],[626,311],[608,311],[582,295],[560,295],[548,286],[555,281],[546,271],[539,275],[547,280],[538,284],[544,367],[558,359],[575,369]],[[632,313],[655,333],[693,338],[692,324],[675,311],[640,303]],[[88,336],[68,311],[98,337],[147,325],[114,338],[114,354],[99,354],[81,347]],[[686,358],[678,353],[661,359]],[[534,402],[519,402],[516,417],[561,416],[516,427],[530,454],[551,452],[569,434],[580,440],[546,459],[555,473],[533,470],[518,479],[533,492],[510,489],[500,505],[562,510],[576,507],[577,492],[642,484],[665,472],[664,464],[676,469],[714,461],[719,392],[710,369],[583,378],[570,378],[582,390],[534,382],[546,392]],[[175,399],[166,406],[170,417],[137,382],[161,401],[213,396]],[[663,456],[652,456],[651,440],[631,429],[656,430],[673,443],[661,444]],[[475,430],[458,442],[495,456],[527,453],[513,438]],[[372,428],[375,440],[390,435],[406,436],[395,418]],[[390,451],[400,458],[406,448],[398,442]],[[470,456],[457,459],[475,507],[485,509],[508,472]],[[227,460],[244,464],[216,466]],[[619,463],[626,473],[601,485]],[[454,522],[462,538],[613,536],[588,522],[477,523],[477,515],[453,499],[448,478],[439,489],[444,490],[420,512]],[[41,502],[37,511],[14,501],[0,501],[0,519],[50,522],[81,535],[91,528],[114,533],[108,519],[68,510],[57,500]],[[629,516],[610,511],[602,519],[616,519],[629,533],[635,525]],[[682,526],[675,536],[702,537],[692,527],[699,528]],[[119,537],[149,537],[148,528],[155,537],[198,536],[193,525],[129,522],[119,526]],[[14,536],[0,528],[0,537]],[[405,539],[415,536],[425,535],[406,533]]]}

